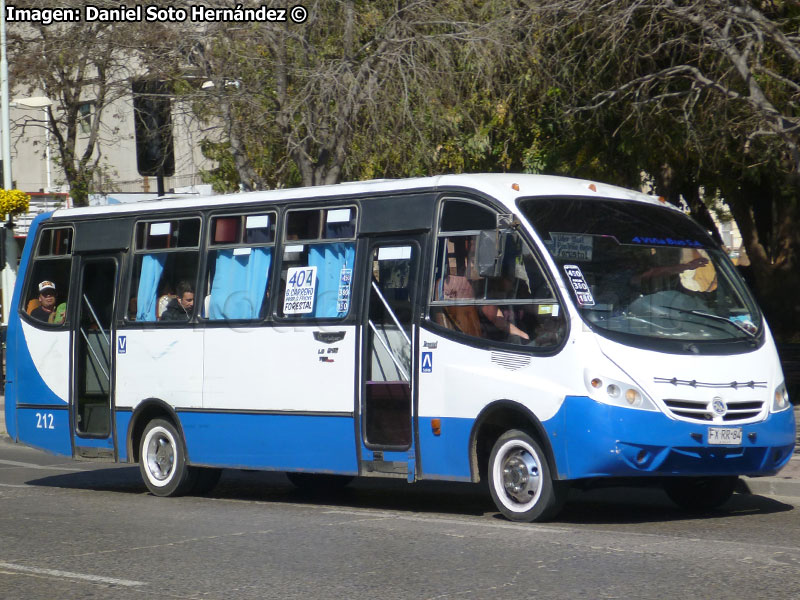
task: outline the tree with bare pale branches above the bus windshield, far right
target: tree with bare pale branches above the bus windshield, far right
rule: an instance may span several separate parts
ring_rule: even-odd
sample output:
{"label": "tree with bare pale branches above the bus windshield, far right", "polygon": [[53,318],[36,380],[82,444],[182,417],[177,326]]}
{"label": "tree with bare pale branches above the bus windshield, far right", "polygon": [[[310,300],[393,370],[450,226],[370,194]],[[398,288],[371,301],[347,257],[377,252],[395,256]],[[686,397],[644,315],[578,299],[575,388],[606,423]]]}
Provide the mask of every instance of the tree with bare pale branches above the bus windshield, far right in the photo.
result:
{"label": "tree with bare pale branches above the bus windshield, far right", "polygon": [[800,7],[553,0],[530,19],[568,139],[599,140],[600,165],[622,156],[706,225],[722,196],[773,327],[800,335]]}

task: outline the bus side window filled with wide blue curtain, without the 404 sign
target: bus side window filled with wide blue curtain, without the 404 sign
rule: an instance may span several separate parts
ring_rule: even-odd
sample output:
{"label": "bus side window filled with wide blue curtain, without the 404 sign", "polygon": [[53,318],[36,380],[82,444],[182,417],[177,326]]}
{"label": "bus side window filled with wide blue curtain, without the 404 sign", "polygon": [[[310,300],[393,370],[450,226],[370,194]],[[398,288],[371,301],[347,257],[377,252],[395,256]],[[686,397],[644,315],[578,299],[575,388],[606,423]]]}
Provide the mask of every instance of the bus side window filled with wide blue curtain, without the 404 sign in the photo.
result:
{"label": "bus side window filled with wide blue curtain, without the 404 sign", "polygon": [[202,316],[209,320],[261,318],[274,257],[275,213],[211,219]]}

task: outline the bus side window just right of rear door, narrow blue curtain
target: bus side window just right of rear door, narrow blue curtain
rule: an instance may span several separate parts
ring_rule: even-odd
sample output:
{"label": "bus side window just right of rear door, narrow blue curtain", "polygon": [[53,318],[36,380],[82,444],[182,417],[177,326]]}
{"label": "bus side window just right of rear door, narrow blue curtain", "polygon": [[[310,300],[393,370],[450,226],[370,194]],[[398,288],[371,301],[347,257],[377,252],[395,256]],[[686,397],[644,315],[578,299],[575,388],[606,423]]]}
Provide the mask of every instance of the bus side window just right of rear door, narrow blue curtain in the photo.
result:
{"label": "bus side window just right of rear door, narrow blue curtain", "polygon": [[[177,301],[179,287],[195,293],[199,247],[199,218],[136,224],[136,255],[126,315],[129,321],[160,320]],[[182,320],[191,316],[189,311]]]}

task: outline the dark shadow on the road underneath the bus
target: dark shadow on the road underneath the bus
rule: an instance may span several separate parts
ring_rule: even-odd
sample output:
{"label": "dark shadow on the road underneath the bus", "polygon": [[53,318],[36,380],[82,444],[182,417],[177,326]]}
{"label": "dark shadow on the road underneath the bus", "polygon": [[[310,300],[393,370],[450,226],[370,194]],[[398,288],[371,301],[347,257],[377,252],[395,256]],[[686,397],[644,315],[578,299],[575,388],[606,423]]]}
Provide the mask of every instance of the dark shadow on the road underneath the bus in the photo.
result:
{"label": "dark shadow on the road underneath the bus", "polygon": [[[136,466],[58,474],[30,480],[27,484],[122,494],[148,493]],[[473,483],[422,481],[409,484],[400,479],[359,478],[339,490],[314,490],[296,488],[283,473],[225,469],[217,487],[204,497],[503,518],[494,507],[487,486]],[[571,490],[563,511],[551,522],[636,524],[766,515],[792,510],[794,506],[773,498],[737,493],[721,508],[688,512],[676,507],[658,488],[612,487]]]}

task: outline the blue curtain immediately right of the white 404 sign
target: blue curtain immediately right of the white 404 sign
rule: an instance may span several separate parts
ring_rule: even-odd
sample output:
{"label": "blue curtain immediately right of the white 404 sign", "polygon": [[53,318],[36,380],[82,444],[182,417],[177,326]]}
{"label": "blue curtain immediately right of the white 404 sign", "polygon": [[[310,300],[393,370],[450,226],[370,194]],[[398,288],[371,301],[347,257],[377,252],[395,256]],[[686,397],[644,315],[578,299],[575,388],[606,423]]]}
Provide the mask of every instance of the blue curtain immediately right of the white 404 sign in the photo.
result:
{"label": "blue curtain immediately right of the white 404 sign", "polygon": [[[354,242],[312,245],[308,265],[317,267],[317,293],[312,317],[343,317],[350,304],[351,279],[355,259]],[[345,308],[345,310],[339,310]]]}

